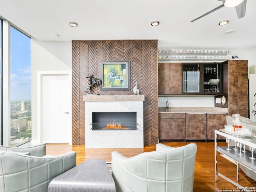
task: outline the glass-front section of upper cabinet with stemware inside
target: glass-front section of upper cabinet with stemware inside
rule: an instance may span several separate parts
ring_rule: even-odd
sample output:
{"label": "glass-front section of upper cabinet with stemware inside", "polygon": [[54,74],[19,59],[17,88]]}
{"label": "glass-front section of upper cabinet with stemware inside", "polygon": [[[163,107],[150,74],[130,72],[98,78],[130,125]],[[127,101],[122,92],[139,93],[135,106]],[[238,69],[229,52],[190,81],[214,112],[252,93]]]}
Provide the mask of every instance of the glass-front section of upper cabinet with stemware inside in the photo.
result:
{"label": "glass-front section of upper cabinet with stemware inside", "polygon": [[221,94],[220,63],[182,63],[182,94]]}

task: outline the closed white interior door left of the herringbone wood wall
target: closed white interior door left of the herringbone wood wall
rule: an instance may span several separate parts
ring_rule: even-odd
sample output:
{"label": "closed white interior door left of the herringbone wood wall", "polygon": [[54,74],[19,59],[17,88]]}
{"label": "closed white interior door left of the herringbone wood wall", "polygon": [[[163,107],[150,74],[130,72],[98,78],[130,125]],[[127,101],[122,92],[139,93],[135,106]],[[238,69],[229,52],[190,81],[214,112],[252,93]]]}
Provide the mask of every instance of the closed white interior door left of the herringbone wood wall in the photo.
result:
{"label": "closed white interior door left of the herringbone wood wall", "polygon": [[70,143],[71,87],[68,74],[42,76],[42,140]]}

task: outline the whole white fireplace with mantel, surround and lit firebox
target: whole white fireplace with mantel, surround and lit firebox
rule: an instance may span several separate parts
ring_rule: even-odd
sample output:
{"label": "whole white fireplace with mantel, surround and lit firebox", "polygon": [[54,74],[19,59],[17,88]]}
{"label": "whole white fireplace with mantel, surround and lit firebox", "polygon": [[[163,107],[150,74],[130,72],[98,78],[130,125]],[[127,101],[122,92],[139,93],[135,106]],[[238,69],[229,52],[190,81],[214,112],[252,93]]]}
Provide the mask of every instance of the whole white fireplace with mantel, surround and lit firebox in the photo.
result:
{"label": "whole white fireplace with mantel, surround and lit firebox", "polygon": [[86,148],[143,148],[144,95],[86,95]]}

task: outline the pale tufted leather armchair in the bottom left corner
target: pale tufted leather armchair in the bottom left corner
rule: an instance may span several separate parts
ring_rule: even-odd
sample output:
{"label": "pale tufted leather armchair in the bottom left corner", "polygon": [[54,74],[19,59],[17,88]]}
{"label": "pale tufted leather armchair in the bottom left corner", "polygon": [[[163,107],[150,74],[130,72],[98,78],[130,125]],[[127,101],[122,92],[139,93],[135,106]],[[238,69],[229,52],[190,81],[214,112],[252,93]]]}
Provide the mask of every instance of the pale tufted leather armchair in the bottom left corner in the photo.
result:
{"label": "pale tufted leather armchair in the bottom left corner", "polygon": [[53,178],[76,166],[76,152],[45,156],[45,149],[0,146],[0,192],[47,192]]}

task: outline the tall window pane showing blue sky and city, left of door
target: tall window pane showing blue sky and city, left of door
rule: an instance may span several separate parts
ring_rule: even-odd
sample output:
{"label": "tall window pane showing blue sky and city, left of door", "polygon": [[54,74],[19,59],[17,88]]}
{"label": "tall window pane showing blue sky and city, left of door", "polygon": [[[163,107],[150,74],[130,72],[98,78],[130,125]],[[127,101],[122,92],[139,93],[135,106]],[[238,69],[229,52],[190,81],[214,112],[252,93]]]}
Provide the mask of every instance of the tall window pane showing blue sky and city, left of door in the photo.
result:
{"label": "tall window pane showing blue sky and city, left of door", "polygon": [[31,39],[10,28],[10,145],[31,140]]}

